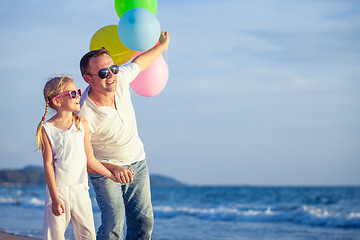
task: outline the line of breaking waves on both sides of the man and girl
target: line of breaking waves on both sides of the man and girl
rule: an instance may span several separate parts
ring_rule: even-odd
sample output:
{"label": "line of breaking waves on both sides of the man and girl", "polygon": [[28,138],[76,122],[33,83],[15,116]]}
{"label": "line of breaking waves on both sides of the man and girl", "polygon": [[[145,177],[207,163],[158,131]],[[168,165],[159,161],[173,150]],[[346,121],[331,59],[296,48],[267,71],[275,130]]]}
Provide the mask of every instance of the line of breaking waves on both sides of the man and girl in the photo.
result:
{"label": "line of breaking waves on both sides of the man and girl", "polygon": [[[44,200],[41,197],[29,195],[1,196],[0,204],[42,209]],[[100,211],[96,201],[93,201],[93,209],[95,212]],[[154,206],[153,209],[155,217],[163,219],[189,216],[210,221],[289,222],[308,226],[360,229],[360,212],[351,211],[348,207],[333,210],[312,205],[282,204],[265,207],[243,205],[230,207]]]}

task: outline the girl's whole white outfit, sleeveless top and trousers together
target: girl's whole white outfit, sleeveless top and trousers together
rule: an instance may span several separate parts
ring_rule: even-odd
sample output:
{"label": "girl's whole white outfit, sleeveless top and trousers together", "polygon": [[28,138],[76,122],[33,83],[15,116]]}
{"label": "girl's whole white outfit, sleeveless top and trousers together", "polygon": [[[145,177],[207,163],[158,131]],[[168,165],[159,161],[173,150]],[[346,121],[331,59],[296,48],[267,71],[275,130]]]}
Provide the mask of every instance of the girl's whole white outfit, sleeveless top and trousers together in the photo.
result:
{"label": "girl's whole white outfit, sleeveless top and trousers together", "polygon": [[44,239],[65,239],[64,233],[70,221],[75,239],[96,239],[86,170],[85,130],[80,124],[79,131],[75,122],[68,130],[59,129],[48,122],[43,126],[53,152],[58,195],[65,205],[65,213],[55,216],[46,188]]}

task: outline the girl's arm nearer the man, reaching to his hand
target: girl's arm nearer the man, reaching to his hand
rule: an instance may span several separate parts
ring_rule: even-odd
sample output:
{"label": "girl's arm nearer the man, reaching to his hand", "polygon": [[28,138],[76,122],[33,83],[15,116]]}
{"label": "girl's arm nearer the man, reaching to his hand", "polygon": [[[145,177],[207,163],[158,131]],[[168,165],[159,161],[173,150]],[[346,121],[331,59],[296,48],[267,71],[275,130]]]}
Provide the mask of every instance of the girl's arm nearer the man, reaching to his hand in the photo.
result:
{"label": "girl's arm nearer the man, reaching to his hand", "polygon": [[81,118],[81,123],[85,129],[85,139],[84,139],[84,145],[85,145],[85,154],[87,158],[87,168],[88,171],[93,173],[96,172],[97,174],[104,175],[107,178],[110,178],[114,182],[118,182],[116,177],[106,168],[104,167],[98,160],[96,160],[93,152],[93,148],[90,142],[90,130],[89,130],[89,124],[86,121],[86,119]]}

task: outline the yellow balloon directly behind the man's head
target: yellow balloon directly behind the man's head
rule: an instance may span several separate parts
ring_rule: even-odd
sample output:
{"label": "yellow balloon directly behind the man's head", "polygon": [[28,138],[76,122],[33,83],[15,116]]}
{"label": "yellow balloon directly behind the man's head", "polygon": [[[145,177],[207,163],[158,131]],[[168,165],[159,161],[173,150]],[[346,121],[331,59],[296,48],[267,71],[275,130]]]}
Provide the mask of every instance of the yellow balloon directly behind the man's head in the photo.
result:
{"label": "yellow balloon directly behind the man's head", "polygon": [[136,51],[127,48],[120,41],[116,25],[108,25],[95,32],[90,40],[90,50],[100,49],[101,47],[105,47],[109,51],[110,56],[117,65],[126,63],[136,54]]}

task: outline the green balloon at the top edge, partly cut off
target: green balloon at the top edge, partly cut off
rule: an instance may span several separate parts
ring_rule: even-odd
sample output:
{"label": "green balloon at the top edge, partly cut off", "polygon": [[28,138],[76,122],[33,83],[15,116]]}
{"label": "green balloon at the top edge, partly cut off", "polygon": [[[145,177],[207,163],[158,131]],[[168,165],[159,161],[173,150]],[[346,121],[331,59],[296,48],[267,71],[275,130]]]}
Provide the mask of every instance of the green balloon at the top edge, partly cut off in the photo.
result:
{"label": "green balloon at the top edge, partly cut off", "polygon": [[157,12],[157,1],[156,0],[115,0],[115,10],[119,18],[124,13],[134,8],[144,8],[149,10],[154,15]]}

